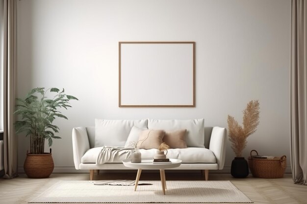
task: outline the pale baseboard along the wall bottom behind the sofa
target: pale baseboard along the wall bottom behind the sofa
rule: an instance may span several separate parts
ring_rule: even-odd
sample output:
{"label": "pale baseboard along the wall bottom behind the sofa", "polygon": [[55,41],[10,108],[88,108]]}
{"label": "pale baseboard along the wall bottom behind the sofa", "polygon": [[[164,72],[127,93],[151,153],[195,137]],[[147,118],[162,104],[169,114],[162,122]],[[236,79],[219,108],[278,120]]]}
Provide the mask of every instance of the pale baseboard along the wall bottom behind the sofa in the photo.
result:
{"label": "pale baseboard along the wall bottom behind the sofa", "polygon": [[[210,173],[230,173],[230,166],[224,166],[224,169],[221,170],[210,170]],[[133,172],[136,170],[101,170],[101,172]],[[174,171],[174,172],[195,172],[196,170],[168,170],[168,171]],[[19,173],[25,173],[24,167],[19,166],[18,167]],[[291,167],[287,166],[285,173],[291,173]],[[89,173],[89,170],[77,170],[75,169],[75,166],[55,166],[52,173]]]}

